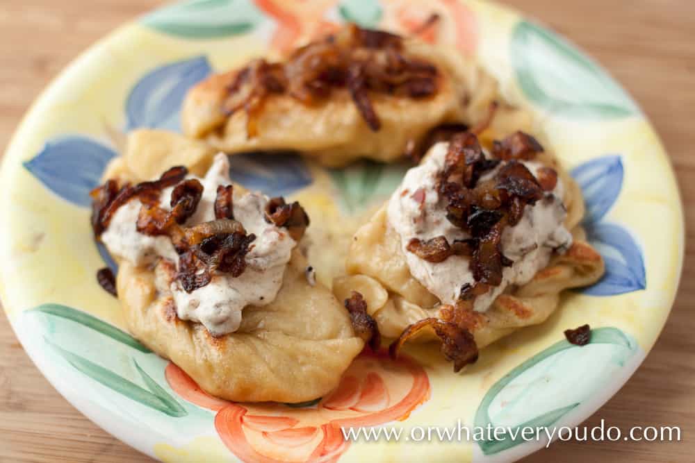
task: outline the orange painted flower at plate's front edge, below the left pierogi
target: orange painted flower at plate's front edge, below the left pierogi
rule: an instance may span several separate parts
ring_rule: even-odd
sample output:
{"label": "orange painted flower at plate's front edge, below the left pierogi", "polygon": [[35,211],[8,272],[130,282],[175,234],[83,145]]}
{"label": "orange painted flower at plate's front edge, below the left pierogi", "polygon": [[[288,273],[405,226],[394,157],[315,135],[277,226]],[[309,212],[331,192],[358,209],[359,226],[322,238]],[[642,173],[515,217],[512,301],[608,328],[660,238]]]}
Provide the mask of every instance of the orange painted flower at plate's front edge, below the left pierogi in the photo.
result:
{"label": "orange painted flower at plate's front edge, below the left pierogi", "polygon": [[217,412],[220,439],[244,462],[336,462],[350,446],[341,428],[406,419],[430,397],[430,380],[420,365],[368,348],[329,396],[306,407],[223,401],[172,363],[166,378],[181,398]]}

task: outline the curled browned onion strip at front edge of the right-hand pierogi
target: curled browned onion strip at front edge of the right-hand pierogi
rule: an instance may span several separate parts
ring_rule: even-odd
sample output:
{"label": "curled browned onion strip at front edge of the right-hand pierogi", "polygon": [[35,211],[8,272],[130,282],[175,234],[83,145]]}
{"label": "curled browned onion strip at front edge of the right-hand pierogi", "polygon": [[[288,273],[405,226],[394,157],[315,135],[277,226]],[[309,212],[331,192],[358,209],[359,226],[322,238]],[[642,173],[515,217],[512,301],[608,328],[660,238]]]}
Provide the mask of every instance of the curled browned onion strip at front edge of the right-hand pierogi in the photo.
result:
{"label": "curled browned onion strip at front edge of the right-hand pierogi", "polygon": [[439,337],[442,343],[441,353],[446,360],[454,362],[454,371],[459,371],[477,360],[478,349],[471,332],[450,321],[435,318],[423,319],[405,328],[398,339],[389,346],[391,357],[397,358],[403,344],[425,328],[431,328]]}

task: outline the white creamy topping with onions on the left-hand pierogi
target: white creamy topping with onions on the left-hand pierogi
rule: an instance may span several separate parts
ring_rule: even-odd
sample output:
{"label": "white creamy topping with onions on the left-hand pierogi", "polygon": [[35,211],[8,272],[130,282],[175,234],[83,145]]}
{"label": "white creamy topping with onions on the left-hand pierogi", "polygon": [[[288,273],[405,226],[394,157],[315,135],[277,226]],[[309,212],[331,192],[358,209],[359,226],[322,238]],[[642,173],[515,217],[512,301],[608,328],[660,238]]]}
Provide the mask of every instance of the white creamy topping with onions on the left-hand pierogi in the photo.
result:
{"label": "white creamy topping with onions on the left-hand pierogi", "polygon": [[[216,155],[205,178],[198,180],[204,187],[202,198],[193,217],[186,221],[186,226],[215,219],[217,187],[231,183],[227,155]],[[172,190],[173,187],[163,190],[162,208],[170,208]],[[297,245],[286,230],[265,221],[267,196],[242,194],[235,189],[233,202],[234,219],[244,226],[247,233],[256,235],[245,256],[245,271],[236,278],[228,273],[215,272],[210,283],[190,294],[183,290],[177,280],[170,285],[179,318],[202,323],[214,336],[236,331],[245,306],[266,305],[275,300],[286,264]],[[101,235],[101,241],[110,253],[136,266],[153,264],[160,257],[178,265],[179,256],[169,237],[150,237],[136,230],[140,205],[138,199],[133,199],[120,207]]]}

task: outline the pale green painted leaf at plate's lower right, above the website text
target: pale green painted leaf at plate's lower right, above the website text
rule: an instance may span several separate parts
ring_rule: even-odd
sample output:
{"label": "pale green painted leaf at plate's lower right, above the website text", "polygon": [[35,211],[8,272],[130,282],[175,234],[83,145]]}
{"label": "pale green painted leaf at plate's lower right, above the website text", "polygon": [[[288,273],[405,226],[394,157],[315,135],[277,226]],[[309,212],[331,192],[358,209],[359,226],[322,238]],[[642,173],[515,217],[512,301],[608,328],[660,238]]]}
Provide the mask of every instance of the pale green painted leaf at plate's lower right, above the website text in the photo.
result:
{"label": "pale green painted leaf at plate's lower right, above the website text", "polygon": [[[500,378],[480,403],[475,426],[513,430],[551,426],[605,387],[637,349],[635,340],[617,328],[591,330],[587,346],[563,339]],[[492,455],[523,442],[521,432],[505,437],[478,445],[485,455]]]}

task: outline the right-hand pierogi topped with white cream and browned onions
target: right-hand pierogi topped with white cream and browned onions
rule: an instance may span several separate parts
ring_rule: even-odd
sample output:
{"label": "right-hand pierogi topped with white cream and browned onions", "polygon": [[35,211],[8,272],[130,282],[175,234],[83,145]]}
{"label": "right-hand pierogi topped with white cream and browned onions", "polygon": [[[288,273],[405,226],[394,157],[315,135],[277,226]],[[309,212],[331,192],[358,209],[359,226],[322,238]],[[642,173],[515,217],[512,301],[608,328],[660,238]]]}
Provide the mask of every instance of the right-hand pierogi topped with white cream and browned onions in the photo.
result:
{"label": "right-hand pierogi topped with white cream and browned onions", "polygon": [[[507,140],[517,136],[522,135]],[[470,133],[462,137],[468,137],[461,152],[469,150],[465,164],[469,168],[477,140]],[[496,149],[502,151],[505,142]],[[360,292],[382,335],[399,338],[394,347],[400,348],[406,339],[422,342],[436,337],[446,347],[446,342],[457,344],[451,333],[458,333],[459,350],[466,348],[468,354],[445,353],[449,360],[459,361],[458,369],[475,361],[478,348],[546,320],[564,289],[596,282],[604,264],[580,227],[584,203],[579,187],[553,155],[539,145],[538,152],[529,156],[533,160],[514,156],[499,160],[487,152],[475,162],[496,166],[480,174],[477,183],[473,180],[468,188],[459,187],[460,192],[446,196],[441,175],[455,151],[452,143],[434,145],[422,164],[406,174],[389,203],[357,231],[347,257],[348,275],[336,278],[334,292],[338,298]],[[483,249],[484,243],[513,211],[504,210],[491,195],[506,189],[505,195],[513,198],[530,191],[512,194],[509,178],[502,185],[500,177],[512,169],[526,176],[512,178],[514,185],[521,188],[522,180],[528,182],[524,188],[535,188],[538,196],[516,212],[514,225],[500,232],[493,262],[485,257],[489,249]],[[464,199],[473,205],[466,204],[467,222],[464,217],[460,224],[456,205]],[[485,202],[489,209],[482,207]],[[482,231],[476,229],[481,227]],[[445,329],[449,335],[443,334]]]}

